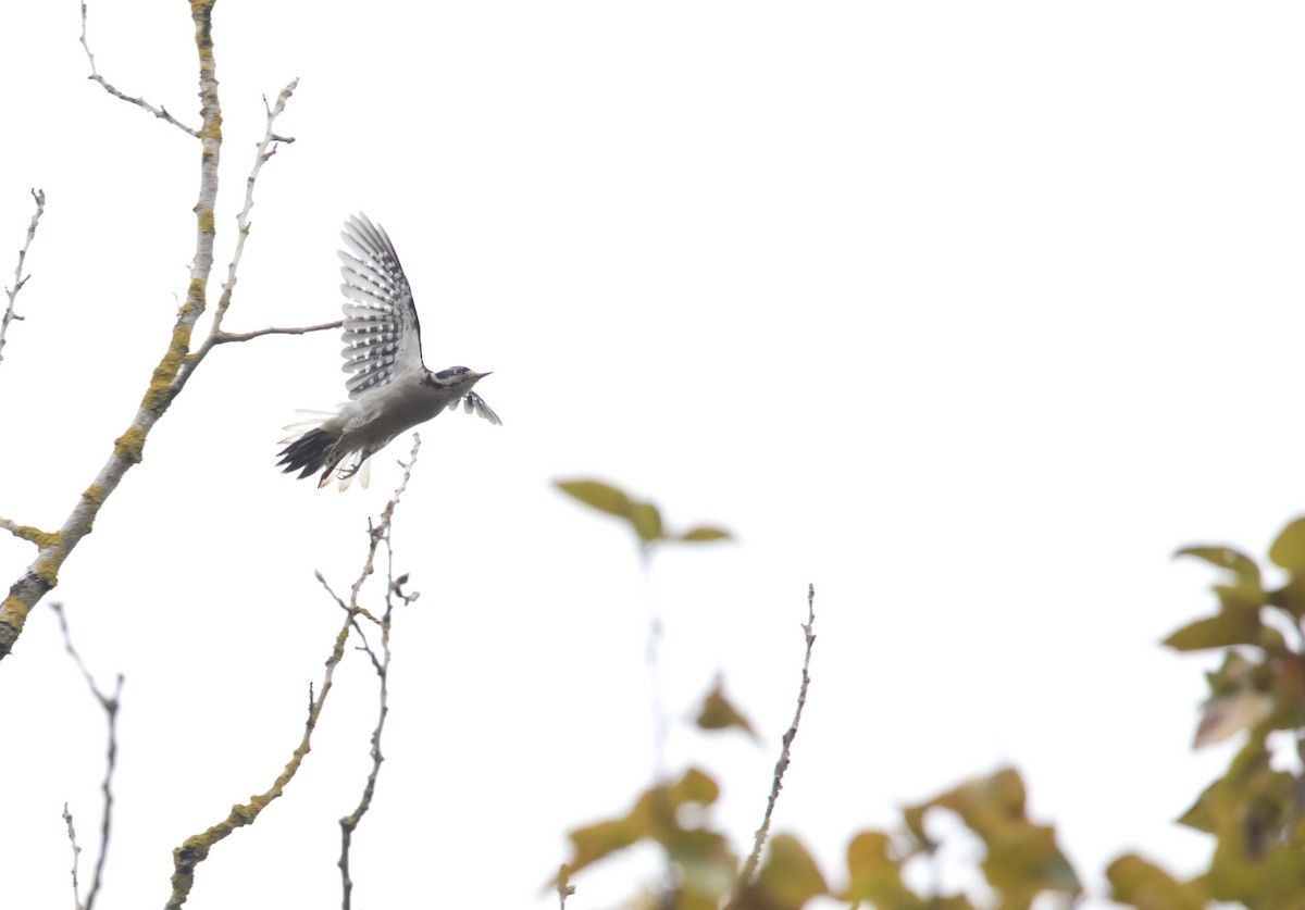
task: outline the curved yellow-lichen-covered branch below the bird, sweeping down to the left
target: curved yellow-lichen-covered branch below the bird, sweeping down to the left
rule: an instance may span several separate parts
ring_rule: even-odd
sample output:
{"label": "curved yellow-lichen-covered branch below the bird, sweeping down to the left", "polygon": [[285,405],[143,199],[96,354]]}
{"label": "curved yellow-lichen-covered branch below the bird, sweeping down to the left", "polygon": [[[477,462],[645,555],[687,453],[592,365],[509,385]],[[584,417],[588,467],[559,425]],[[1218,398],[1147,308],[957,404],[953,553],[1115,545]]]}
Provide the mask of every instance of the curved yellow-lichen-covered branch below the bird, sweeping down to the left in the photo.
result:
{"label": "curved yellow-lichen-covered branch below the bird, sweeping down to the left", "polygon": [[[290,761],[286,764],[284,771],[282,771],[281,774],[277,777],[277,780],[273,781],[271,789],[269,789],[266,793],[261,795],[253,797],[248,803],[234,806],[231,808],[231,814],[226,819],[223,819],[222,821],[219,821],[218,824],[213,825],[211,828],[200,834],[188,837],[181,844],[181,846],[176,847],[172,851],[172,866],[174,866],[172,894],[168,898],[166,910],[179,910],[179,907],[183,903],[185,903],[187,898],[191,894],[191,888],[193,888],[194,885],[194,867],[209,857],[209,851],[214,847],[214,845],[218,844],[218,841],[224,840],[227,836],[235,832],[236,828],[253,824],[254,819],[258,817],[262,810],[265,810],[271,803],[271,800],[277,799],[284,793],[286,785],[288,785],[290,781],[299,772],[299,767],[303,764],[304,756],[307,756],[308,752],[312,750],[313,731],[317,729],[317,721],[321,717],[322,707],[326,704],[326,696],[330,695],[331,686],[334,684],[333,679],[335,675],[335,668],[339,666],[339,662],[345,657],[345,645],[348,641],[348,635],[354,628],[356,628],[358,618],[360,615],[371,617],[371,614],[365,609],[363,609],[363,606],[359,604],[359,592],[363,588],[363,583],[368,579],[368,576],[372,575],[372,572],[376,568],[376,551],[380,548],[381,541],[386,541],[388,546],[390,523],[394,518],[394,508],[398,506],[399,498],[407,489],[408,477],[412,473],[412,465],[416,463],[416,455],[420,446],[422,446],[420,437],[414,434],[411,460],[403,467],[403,480],[399,482],[398,489],[394,490],[394,497],[385,505],[385,510],[381,512],[377,524],[375,527],[368,528],[369,544],[367,550],[367,559],[363,563],[363,568],[359,571],[358,580],[354,583],[351,588],[348,602],[346,604],[343,600],[341,600],[341,597],[338,597],[335,592],[331,591],[330,585],[326,583],[326,579],[322,576],[322,574],[317,572],[317,580],[326,589],[326,593],[329,593],[341,606],[341,609],[345,610],[345,621],[341,623],[339,631],[335,634],[335,643],[331,647],[330,656],[326,658],[326,670],[324,673],[322,682],[317,690],[316,696],[312,694],[312,688],[309,688],[308,721],[304,725],[304,733],[300,737],[299,746],[295,747],[295,751],[291,755]],[[386,600],[386,604],[389,604],[389,598]],[[389,609],[386,609],[386,614],[388,613]],[[388,639],[385,647],[388,647]],[[375,653],[372,654],[372,658],[373,661],[376,660]],[[386,657],[386,664],[388,664],[388,657]],[[381,678],[384,683],[384,675]],[[385,714],[384,688],[382,688],[381,705],[382,705],[382,712],[381,712],[381,725],[382,725]],[[381,725],[378,725],[377,731],[373,733],[372,748],[373,748],[375,764],[372,768],[372,774],[368,778],[368,787],[375,787],[376,772],[381,761],[380,759]],[[363,811],[365,811],[365,808]],[[342,870],[342,872],[345,872],[345,877],[347,881],[347,872],[345,870]],[[348,905],[346,900],[346,907]]]}

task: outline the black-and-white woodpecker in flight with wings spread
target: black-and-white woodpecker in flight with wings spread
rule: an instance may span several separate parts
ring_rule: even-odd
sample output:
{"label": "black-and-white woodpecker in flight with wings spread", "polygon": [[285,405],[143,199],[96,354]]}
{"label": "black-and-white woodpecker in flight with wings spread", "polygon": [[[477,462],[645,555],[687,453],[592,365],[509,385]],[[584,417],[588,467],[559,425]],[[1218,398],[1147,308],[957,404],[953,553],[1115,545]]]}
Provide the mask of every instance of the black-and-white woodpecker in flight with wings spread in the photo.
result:
{"label": "black-and-white woodpecker in flight with wings spread", "polygon": [[350,216],[341,232],[347,250],[339,250],[339,289],[345,293],[345,381],[350,400],[335,411],[300,411],[309,420],[291,424],[294,433],[278,455],[282,473],[299,477],[321,471],[318,488],[333,478],[346,490],[359,478],[367,486],[372,455],[399,433],[424,424],[461,402],[493,425],[499,415],[472,387],[489,373],[450,366],[432,373],[422,361],[422,325],[412,288],[385,229],[367,215]]}

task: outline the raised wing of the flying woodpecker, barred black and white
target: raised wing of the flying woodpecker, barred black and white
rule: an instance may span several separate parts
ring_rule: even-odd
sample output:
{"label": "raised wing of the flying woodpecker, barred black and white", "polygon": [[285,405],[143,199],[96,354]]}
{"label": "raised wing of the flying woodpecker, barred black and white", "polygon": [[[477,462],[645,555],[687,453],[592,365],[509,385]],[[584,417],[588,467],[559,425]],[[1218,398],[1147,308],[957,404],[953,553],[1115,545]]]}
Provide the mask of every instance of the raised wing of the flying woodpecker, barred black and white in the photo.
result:
{"label": "raised wing of the flying woodpecker, barred black and white", "polygon": [[341,232],[348,250],[339,252],[339,289],[345,310],[345,381],[348,396],[359,398],[395,375],[422,369],[422,326],[412,305],[412,288],[385,231],[367,215],[350,216]]}

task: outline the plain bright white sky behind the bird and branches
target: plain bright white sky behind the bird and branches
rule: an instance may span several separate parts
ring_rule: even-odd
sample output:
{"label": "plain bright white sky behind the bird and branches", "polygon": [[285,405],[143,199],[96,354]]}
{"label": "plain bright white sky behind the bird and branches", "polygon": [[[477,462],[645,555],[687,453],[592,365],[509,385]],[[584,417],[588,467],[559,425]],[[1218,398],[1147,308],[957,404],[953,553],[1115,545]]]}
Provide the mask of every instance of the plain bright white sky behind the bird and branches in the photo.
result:
{"label": "plain bright white sky behind the bird and branches", "polygon": [[[307,10],[311,9],[311,16]],[[100,73],[196,123],[187,8],[93,0]],[[262,102],[292,77],[232,330],[338,318],[345,215],[382,223],[427,362],[502,416],[423,429],[395,524],[395,628],[355,906],[551,906],[572,827],[647,785],[643,581],[598,476],[737,544],[660,554],[666,697],[724,674],[766,737],[676,726],[739,847],[792,712],[776,828],[835,884],[847,840],[1015,763],[1099,896],[1224,765],[1188,750],[1208,661],[1156,641],[1211,608],[1191,542],[1263,551],[1300,508],[1305,128],[1296,4],[476,3],[217,8],[221,280]],[[0,515],[54,528],[167,340],[197,145],[86,81],[78,5],[0,5],[0,271],[48,194],[0,365]],[[8,284],[12,278],[7,278]],[[217,296],[218,280],[210,287]],[[365,516],[274,469],[345,398],[334,334],[217,351],[55,597],[127,674],[102,910],[162,905],[171,850],[298,742]],[[33,550],[0,538],[5,584]],[[367,765],[359,656],[288,794],[189,906],[331,906]],[[95,846],[103,726],[42,606],[0,666],[5,905],[63,907],[72,803]],[[82,866],[89,877],[89,859]],[[629,883],[581,877],[569,906]]]}

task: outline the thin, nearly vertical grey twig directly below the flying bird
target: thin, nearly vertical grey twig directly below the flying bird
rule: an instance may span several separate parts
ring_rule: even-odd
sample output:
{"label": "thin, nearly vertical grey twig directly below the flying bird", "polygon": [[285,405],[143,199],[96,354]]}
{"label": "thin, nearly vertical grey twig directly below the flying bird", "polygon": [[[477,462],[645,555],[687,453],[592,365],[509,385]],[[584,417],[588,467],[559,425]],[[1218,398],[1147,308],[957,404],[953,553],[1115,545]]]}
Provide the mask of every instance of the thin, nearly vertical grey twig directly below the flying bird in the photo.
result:
{"label": "thin, nearly vertical grey twig directly below the flying bird", "polygon": [[[350,615],[355,621],[355,628],[358,628],[359,638],[363,641],[363,651],[372,660],[372,669],[376,670],[376,675],[380,679],[378,699],[380,704],[377,707],[376,727],[372,730],[372,768],[367,774],[367,781],[363,784],[363,794],[358,800],[358,806],[352,812],[346,815],[339,820],[339,880],[342,890],[341,906],[343,910],[350,910],[352,906],[354,896],[354,880],[350,877],[348,872],[348,851],[354,844],[354,830],[361,823],[363,816],[367,815],[368,810],[372,807],[372,797],[376,794],[376,778],[381,773],[381,763],[385,761],[385,756],[381,754],[381,735],[385,733],[385,718],[389,714],[389,675],[390,675],[390,627],[392,618],[394,615],[394,601],[401,600],[403,604],[411,604],[418,598],[416,592],[405,593],[403,585],[407,583],[407,575],[401,575],[398,580],[394,579],[394,548],[390,545],[390,528],[392,519],[394,516],[394,506],[398,503],[399,497],[403,490],[407,489],[408,477],[412,475],[412,465],[416,463],[416,454],[422,448],[422,437],[416,433],[412,434],[412,451],[410,460],[403,465],[403,478],[399,481],[399,486],[394,490],[394,498],[390,499],[385,511],[381,514],[381,521],[376,528],[369,528],[371,535],[371,551],[368,554],[367,566],[364,571],[359,574],[358,581],[355,581],[352,588],[352,596],[350,601]],[[381,653],[377,654],[372,645],[367,641],[367,636],[363,635],[361,627],[356,624],[358,617],[363,614],[363,609],[358,604],[358,593],[361,591],[363,581],[371,575],[372,555],[376,554],[376,548],[384,541],[385,544],[385,557],[386,557],[386,589],[385,589],[385,613],[380,619],[367,614],[368,618],[376,623],[381,630]],[[337,602],[339,598],[337,598]]]}

